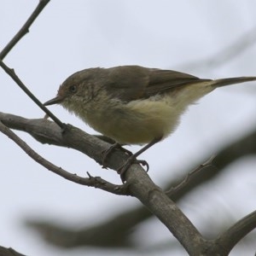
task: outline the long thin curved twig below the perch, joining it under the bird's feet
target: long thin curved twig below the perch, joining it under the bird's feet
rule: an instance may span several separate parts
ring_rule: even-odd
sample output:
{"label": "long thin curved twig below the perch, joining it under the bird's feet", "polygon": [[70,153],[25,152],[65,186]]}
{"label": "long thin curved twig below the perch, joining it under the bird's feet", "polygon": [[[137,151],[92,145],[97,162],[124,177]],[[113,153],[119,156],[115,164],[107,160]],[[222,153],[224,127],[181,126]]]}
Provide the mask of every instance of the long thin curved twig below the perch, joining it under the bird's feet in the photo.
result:
{"label": "long thin curved twig below the perch, joining it under the bird's feet", "polygon": [[22,148],[26,154],[28,154],[33,160],[38,162],[41,166],[47,168],[50,172],[66,178],[73,183],[79,183],[81,185],[86,185],[88,187],[94,187],[96,189],[102,189],[111,192],[115,195],[128,195],[125,185],[116,185],[109,183],[108,181],[102,179],[102,177],[79,177],[76,174],[65,171],[61,167],[55,166],[48,160],[45,160],[41,155],[36,153],[31,147],[29,147],[23,140],[20,139],[13,131],[11,131],[7,126],[3,125],[0,121],[0,131],[13,140],[17,145]]}

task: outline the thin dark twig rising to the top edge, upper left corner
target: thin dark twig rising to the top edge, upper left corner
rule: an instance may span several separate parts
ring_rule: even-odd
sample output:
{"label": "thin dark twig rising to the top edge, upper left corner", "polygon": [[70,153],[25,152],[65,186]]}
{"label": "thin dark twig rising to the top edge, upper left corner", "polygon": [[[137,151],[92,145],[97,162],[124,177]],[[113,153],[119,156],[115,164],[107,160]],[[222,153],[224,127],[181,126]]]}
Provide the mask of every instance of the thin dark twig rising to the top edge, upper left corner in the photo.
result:
{"label": "thin dark twig rising to the top edge, upper left corner", "polygon": [[42,12],[49,0],[40,0],[36,9],[32,12],[32,15],[26,20],[25,24],[20,28],[19,32],[16,33],[15,37],[9,41],[0,53],[0,60],[3,60],[9,51],[14,48],[21,38],[23,38],[27,32],[29,32],[29,27],[32,26],[34,20],[37,19],[38,15]]}

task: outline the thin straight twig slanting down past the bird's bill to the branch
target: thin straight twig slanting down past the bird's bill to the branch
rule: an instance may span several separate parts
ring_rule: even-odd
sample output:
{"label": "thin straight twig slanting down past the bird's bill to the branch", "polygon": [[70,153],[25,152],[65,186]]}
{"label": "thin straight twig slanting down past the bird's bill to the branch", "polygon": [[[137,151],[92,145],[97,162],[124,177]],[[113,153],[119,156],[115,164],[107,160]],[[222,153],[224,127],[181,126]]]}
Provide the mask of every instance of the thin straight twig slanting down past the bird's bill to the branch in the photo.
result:
{"label": "thin straight twig slanting down past the bird's bill to the branch", "polygon": [[9,74],[9,76],[16,82],[16,84],[20,86],[20,89],[23,90],[26,93],[26,95],[29,96],[32,99],[32,101],[35,102],[38,105],[38,107],[41,108],[51,119],[53,119],[55,123],[61,127],[61,129],[65,128],[65,124],[63,124],[60,119],[58,119],[53,113],[51,113],[48,108],[44,107],[42,102],[40,102],[38,98],[34,96],[30,90],[27,89],[26,85],[23,84],[19,77],[16,75],[14,69],[11,69],[8,66],[6,66],[1,60],[0,67],[3,67],[3,70]]}

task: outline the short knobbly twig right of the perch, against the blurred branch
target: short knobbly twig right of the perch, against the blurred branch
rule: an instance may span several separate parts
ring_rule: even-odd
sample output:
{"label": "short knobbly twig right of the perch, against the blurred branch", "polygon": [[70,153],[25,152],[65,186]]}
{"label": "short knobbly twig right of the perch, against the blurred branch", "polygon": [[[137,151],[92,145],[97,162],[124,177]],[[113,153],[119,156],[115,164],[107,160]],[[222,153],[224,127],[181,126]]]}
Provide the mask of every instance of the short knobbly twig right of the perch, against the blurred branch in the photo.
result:
{"label": "short knobbly twig right of the perch, against the blurred branch", "polygon": [[190,179],[192,177],[195,177],[197,174],[199,174],[199,172],[201,172],[204,168],[206,168],[207,166],[211,166],[212,165],[212,160],[214,160],[215,158],[215,154],[212,155],[207,161],[205,161],[203,164],[201,164],[200,166],[197,166],[194,170],[192,170],[191,172],[189,172],[186,177],[184,177],[184,179],[177,184],[177,186],[172,187],[171,189],[166,191],[166,195],[168,195],[169,197],[172,197],[172,194],[177,193],[178,190],[183,189],[190,181]]}

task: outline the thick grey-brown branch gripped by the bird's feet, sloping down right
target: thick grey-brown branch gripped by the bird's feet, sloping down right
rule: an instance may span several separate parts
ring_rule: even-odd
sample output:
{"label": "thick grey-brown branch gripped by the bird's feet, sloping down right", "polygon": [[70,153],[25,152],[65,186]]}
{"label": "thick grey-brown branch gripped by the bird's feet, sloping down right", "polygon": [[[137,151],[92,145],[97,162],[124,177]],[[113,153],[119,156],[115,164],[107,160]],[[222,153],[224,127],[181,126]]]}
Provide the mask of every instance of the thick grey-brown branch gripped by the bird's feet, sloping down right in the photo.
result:
{"label": "thick grey-brown branch gripped by the bird's feet, sloping down right", "polygon": [[[72,125],[67,125],[64,133],[55,123],[46,119],[23,119],[15,115],[0,113],[0,120],[4,125],[32,134],[42,143],[52,143],[59,146],[74,148],[89,155],[102,164],[102,151],[109,147],[96,137],[86,134]],[[106,165],[118,170],[128,156],[121,151],[109,155]],[[198,255],[204,240],[195,226],[158,188],[139,165],[132,165],[125,173],[126,183],[131,195],[148,207],[148,210],[166,225],[173,236],[183,245],[191,255]],[[174,221],[175,220],[175,221]]]}

